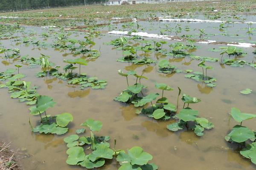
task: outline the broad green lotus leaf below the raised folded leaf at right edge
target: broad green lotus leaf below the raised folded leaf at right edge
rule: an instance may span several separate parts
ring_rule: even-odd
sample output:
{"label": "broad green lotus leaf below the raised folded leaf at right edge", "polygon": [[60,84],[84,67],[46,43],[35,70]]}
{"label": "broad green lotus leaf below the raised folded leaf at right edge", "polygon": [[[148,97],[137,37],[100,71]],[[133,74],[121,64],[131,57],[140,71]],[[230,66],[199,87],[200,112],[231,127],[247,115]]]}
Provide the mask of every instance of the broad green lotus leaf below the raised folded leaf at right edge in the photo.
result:
{"label": "broad green lotus leaf below the raised folded leaf at right edge", "polygon": [[[227,135],[230,137],[234,142],[245,142],[248,139],[254,139],[255,135],[252,130],[248,127],[236,125],[232,128],[231,132]],[[227,137],[227,139],[228,139]]]}

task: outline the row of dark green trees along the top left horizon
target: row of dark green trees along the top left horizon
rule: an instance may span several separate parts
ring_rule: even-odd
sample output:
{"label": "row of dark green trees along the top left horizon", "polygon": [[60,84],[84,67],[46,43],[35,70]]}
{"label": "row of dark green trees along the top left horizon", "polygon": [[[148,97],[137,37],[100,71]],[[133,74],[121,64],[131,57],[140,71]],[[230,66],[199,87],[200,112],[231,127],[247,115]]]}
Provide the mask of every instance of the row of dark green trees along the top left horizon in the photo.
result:
{"label": "row of dark green trees along the top left horizon", "polygon": [[0,0],[0,11],[20,11],[104,3],[106,0]]}

